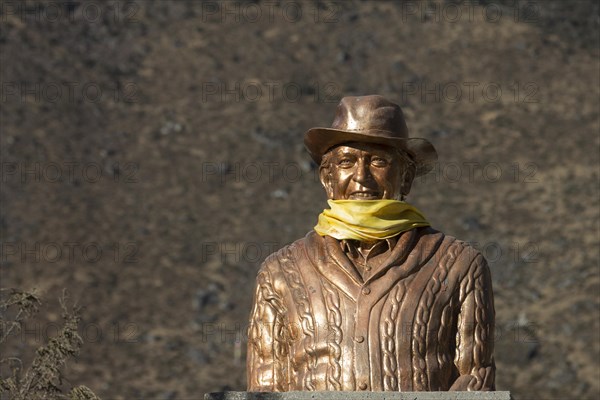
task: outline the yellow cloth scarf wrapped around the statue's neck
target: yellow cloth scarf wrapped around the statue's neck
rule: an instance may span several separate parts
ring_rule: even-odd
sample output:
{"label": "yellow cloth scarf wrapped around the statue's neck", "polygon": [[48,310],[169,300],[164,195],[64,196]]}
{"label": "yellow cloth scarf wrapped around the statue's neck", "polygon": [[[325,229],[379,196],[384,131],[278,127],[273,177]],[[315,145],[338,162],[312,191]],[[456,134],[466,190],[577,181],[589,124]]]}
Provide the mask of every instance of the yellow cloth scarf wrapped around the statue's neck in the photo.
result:
{"label": "yellow cloth scarf wrapped around the statue's neck", "polygon": [[315,231],[338,240],[380,240],[429,222],[415,207],[399,200],[327,200]]}

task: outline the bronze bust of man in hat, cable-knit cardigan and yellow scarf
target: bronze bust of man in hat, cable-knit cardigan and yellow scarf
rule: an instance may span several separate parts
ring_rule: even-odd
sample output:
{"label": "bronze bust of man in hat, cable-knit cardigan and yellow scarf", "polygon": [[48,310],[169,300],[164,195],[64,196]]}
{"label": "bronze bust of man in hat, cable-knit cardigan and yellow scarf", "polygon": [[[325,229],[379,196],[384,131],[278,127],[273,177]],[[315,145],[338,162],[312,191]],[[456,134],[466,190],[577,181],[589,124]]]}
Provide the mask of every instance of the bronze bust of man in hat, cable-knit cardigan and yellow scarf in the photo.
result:
{"label": "bronze bust of man in hat, cable-knit cardigan and yellow scarf", "polygon": [[404,201],[433,145],[381,96],[343,98],[304,143],[330,209],[260,268],[248,390],[495,390],[486,260]]}

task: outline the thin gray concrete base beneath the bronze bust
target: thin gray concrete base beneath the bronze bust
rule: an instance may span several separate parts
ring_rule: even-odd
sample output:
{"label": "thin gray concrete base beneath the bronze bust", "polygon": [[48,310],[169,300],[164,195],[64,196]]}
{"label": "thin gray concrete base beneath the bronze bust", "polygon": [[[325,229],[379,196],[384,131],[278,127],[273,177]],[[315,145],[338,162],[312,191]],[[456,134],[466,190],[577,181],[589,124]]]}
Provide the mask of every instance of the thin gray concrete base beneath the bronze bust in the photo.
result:
{"label": "thin gray concrete base beneath the bronze bust", "polygon": [[217,392],[204,400],[512,400],[510,392]]}

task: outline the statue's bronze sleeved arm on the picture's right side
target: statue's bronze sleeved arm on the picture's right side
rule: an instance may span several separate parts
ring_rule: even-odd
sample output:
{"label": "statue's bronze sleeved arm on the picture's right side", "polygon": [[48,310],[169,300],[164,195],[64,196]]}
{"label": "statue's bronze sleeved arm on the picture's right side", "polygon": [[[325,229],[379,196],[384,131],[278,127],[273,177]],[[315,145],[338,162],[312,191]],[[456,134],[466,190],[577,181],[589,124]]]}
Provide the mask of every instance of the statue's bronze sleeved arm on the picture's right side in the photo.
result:
{"label": "statue's bronze sleeved arm on the picture's right side", "polygon": [[479,253],[460,286],[454,363],[458,379],[450,390],[495,390],[494,296],[490,269]]}

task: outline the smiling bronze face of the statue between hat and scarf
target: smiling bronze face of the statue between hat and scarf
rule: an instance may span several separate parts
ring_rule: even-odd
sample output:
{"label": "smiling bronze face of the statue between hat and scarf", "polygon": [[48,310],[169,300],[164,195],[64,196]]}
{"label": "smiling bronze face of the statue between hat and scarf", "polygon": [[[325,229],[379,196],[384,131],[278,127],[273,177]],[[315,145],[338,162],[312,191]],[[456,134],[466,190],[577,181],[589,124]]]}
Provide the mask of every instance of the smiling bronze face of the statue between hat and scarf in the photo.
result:
{"label": "smiling bronze face of the statue between hat and scarf", "polygon": [[400,199],[405,165],[393,148],[348,143],[329,153],[329,167],[321,169],[321,182],[330,199]]}

